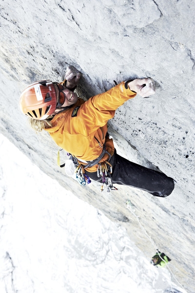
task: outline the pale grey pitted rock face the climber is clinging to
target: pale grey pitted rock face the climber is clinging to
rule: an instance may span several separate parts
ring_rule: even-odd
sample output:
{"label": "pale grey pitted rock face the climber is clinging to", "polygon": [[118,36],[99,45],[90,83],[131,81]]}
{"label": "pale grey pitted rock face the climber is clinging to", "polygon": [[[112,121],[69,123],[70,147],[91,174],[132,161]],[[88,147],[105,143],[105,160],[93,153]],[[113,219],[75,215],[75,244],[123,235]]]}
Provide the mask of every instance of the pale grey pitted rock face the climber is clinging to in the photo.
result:
{"label": "pale grey pitted rock face the climber is clinging to", "polygon": [[[176,278],[193,293],[195,1],[2,1],[0,35],[0,131],[64,188],[124,225],[150,258],[154,247],[127,209],[130,200],[156,248],[172,258]],[[107,195],[96,183],[84,189],[57,167],[58,147],[27,126],[19,97],[36,80],[61,81],[68,64],[82,72],[87,98],[123,80],[155,80],[156,94],[122,105],[109,132],[118,153],[176,180],[170,197],[127,187]]]}

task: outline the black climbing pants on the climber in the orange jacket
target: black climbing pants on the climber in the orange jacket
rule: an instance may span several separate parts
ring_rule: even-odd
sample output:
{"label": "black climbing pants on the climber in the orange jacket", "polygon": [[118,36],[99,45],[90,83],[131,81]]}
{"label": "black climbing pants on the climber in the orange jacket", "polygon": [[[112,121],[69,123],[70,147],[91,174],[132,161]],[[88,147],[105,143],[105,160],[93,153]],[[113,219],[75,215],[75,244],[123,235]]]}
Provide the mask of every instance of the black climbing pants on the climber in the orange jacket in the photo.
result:
{"label": "black climbing pants on the climber in the orange jacket", "polygon": [[[113,184],[127,185],[139,188],[154,196],[166,197],[174,189],[174,180],[164,173],[137,165],[119,156],[115,150],[109,163],[113,166]],[[97,172],[87,172],[92,180],[101,182]]]}

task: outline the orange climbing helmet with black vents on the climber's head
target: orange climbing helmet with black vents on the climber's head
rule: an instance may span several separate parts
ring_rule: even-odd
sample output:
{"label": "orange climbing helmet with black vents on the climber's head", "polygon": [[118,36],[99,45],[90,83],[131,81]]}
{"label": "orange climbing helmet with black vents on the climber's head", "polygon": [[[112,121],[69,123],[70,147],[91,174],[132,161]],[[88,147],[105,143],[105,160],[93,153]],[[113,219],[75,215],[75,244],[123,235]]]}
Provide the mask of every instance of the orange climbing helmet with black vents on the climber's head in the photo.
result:
{"label": "orange climbing helmet with black vents on the climber's head", "polygon": [[57,94],[50,80],[30,84],[20,96],[21,111],[30,118],[46,119],[57,106]]}

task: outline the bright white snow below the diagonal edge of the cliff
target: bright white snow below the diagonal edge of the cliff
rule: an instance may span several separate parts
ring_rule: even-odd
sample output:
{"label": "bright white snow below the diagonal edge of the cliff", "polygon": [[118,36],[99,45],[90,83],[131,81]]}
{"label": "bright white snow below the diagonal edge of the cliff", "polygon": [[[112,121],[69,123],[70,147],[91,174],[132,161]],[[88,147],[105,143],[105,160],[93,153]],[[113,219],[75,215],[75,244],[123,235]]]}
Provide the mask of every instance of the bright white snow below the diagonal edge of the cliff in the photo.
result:
{"label": "bright white snow below the diagonal edge of the cliff", "polygon": [[0,134],[0,293],[186,293],[173,281]]}

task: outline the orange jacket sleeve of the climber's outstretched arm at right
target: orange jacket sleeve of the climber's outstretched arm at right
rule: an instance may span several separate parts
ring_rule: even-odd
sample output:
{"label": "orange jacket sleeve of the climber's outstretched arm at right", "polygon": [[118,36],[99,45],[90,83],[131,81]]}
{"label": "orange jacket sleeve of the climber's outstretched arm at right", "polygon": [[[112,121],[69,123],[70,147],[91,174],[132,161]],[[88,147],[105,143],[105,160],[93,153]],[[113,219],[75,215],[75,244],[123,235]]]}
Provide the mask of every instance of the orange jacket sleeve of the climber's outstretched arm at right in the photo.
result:
{"label": "orange jacket sleeve of the climber's outstretched arm at right", "polygon": [[128,86],[125,87],[125,82],[122,82],[107,92],[90,98],[82,105],[82,111],[80,111],[83,126],[87,124],[93,130],[104,126],[114,117],[115,110],[120,105],[135,96],[136,93],[132,92]]}

